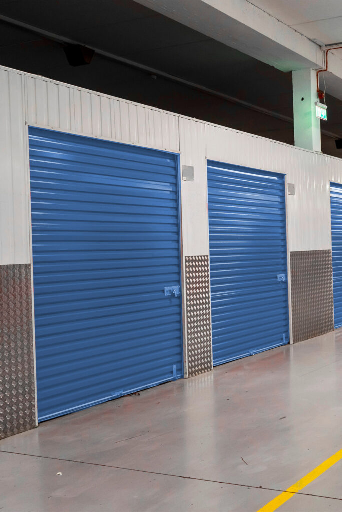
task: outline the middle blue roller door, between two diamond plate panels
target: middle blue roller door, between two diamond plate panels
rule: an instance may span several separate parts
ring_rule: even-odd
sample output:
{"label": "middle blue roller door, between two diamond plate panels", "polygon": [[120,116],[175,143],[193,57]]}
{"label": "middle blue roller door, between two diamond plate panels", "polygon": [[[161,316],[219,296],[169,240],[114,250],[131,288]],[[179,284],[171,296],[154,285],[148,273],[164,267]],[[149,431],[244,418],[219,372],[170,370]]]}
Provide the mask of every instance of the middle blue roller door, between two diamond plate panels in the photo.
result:
{"label": "middle blue roller door, between two diamond plate panels", "polygon": [[213,363],[289,343],[284,176],[208,161]]}

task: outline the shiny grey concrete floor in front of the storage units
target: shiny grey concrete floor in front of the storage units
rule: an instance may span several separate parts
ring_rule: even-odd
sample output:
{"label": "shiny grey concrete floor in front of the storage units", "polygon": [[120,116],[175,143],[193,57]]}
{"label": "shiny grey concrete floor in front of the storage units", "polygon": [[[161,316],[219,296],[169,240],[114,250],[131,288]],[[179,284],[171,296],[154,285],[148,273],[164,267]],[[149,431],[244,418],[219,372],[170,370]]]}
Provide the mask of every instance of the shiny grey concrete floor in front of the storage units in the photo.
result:
{"label": "shiny grey concrete floor in front of the storage units", "polygon": [[[0,441],[0,510],[256,512],[341,448],[340,330]],[[281,512],[342,511],[341,470]]]}

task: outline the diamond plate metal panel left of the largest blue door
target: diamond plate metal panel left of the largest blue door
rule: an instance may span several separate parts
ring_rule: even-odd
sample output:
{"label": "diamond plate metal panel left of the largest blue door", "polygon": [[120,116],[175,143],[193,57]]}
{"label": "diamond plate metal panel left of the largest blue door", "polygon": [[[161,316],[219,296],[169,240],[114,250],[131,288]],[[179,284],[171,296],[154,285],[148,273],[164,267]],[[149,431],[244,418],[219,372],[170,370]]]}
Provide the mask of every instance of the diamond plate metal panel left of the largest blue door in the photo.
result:
{"label": "diamond plate metal panel left of the largest blue door", "polygon": [[0,266],[0,439],[35,426],[30,265]]}

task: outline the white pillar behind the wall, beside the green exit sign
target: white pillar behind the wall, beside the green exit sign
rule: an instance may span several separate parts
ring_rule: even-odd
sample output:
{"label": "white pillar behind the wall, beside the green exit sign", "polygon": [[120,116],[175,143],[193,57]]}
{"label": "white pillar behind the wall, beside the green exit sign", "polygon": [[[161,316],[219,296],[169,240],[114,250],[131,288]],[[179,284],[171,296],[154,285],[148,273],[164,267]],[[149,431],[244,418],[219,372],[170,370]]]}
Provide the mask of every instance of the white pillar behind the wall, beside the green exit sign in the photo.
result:
{"label": "white pillar behind the wall, beside the green exit sign", "polygon": [[312,69],[292,71],[294,145],[311,151],[321,151],[316,80]]}

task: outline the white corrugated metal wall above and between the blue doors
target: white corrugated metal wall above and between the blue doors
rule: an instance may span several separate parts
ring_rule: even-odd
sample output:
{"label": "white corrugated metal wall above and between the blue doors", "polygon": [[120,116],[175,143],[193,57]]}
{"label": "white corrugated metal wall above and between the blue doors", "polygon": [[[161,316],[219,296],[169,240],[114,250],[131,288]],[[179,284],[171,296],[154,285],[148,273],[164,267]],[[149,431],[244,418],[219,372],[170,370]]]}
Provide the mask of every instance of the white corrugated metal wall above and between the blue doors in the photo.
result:
{"label": "white corrugated metal wall above and between the blue doors", "polygon": [[290,251],[331,249],[329,181],[342,160],[0,68],[0,264],[30,262],[27,125],[180,152],[183,255],[209,255],[206,158],[287,174]]}

